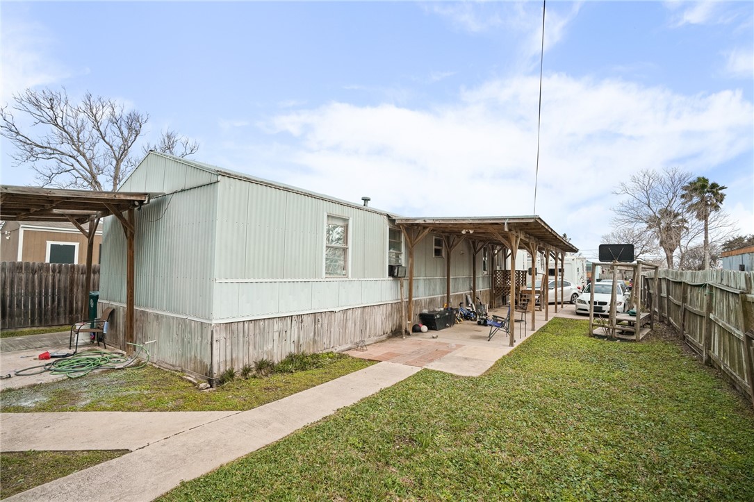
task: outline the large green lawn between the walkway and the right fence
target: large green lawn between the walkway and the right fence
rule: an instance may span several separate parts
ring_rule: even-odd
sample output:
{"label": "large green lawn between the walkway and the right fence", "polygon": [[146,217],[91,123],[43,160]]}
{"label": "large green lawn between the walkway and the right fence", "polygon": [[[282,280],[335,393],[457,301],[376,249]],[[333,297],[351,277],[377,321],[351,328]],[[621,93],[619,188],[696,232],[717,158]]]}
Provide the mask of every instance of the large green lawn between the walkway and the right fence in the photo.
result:
{"label": "large green lawn between the walkway and the right fence", "polygon": [[480,378],[422,370],[161,500],[754,500],[754,412],[671,341],[550,321]]}

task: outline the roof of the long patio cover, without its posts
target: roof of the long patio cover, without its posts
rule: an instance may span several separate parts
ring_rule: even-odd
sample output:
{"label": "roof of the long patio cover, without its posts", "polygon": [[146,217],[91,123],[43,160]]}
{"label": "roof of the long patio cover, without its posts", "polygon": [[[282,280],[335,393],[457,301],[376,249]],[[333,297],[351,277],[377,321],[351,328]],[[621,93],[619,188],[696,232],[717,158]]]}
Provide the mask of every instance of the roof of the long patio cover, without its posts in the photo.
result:
{"label": "roof of the long patio cover, without its posts", "polygon": [[537,243],[564,253],[576,253],[578,248],[558,234],[539,216],[474,216],[467,218],[395,218],[403,227],[431,228],[436,234],[453,234],[487,240],[508,246],[508,232],[520,235],[524,243]]}

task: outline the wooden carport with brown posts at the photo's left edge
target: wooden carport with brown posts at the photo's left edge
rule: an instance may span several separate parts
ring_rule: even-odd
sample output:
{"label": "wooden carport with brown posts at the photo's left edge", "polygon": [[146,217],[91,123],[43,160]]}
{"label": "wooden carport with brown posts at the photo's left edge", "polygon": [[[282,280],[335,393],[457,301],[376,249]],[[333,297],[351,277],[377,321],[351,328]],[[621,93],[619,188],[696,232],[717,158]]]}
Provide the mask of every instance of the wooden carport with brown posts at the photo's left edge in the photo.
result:
{"label": "wooden carport with brown posts at the photo's left edge", "polygon": [[[0,219],[33,222],[71,222],[87,238],[85,295],[91,289],[94,233],[100,219],[113,215],[121,222],[127,241],[125,341],[133,343],[134,240],[133,210],[149,204],[153,194],[121,191],[62,190],[0,185]],[[124,213],[126,215],[124,216]],[[84,305],[87,305],[87,298]],[[82,318],[87,318],[86,307]],[[127,346],[128,347],[128,346]],[[128,350],[127,347],[124,347]]]}

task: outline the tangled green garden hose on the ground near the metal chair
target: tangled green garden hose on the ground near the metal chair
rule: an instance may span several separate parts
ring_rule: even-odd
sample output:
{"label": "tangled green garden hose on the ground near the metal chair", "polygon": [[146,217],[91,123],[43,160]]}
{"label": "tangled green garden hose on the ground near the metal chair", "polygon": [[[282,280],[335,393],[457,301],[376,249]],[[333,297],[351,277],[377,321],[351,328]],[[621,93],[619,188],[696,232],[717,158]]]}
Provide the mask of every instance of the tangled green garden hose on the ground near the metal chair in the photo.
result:
{"label": "tangled green garden hose on the ground near the metal chair", "polygon": [[[51,375],[66,375],[68,378],[80,378],[88,375],[95,369],[139,369],[146,366],[149,363],[149,350],[146,350],[144,345],[131,343],[129,345],[136,347],[136,352],[131,357],[125,357],[123,354],[116,354],[108,350],[90,350],[40,364],[39,366],[17,369],[14,373],[16,376],[26,376],[50,372]],[[141,359],[141,363],[133,365],[139,359]]]}

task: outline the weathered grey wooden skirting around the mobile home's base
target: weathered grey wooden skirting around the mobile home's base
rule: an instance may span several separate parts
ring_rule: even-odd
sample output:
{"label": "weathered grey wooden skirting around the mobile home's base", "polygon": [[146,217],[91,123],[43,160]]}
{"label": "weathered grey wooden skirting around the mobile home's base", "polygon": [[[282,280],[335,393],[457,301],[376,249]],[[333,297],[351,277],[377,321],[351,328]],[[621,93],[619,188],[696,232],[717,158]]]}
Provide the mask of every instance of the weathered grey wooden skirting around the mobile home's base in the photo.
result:
{"label": "weathered grey wooden skirting around the mobile home's base", "polygon": [[[489,290],[478,292],[489,302]],[[465,293],[451,296],[455,308]],[[445,296],[414,302],[418,323],[421,311],[442,308]],[[106,342],[124,347],[125,308],[100,302],[100,309],[115,308]],[[136,308],[136,344],[147,344],[153,362],[206,378],[216,378],[226,369],[241,370],[255,361],[282,360],[295,352],[345,350],[400,334],[400,302],[267,319],[211,324]]]}

